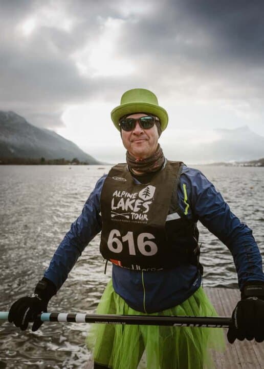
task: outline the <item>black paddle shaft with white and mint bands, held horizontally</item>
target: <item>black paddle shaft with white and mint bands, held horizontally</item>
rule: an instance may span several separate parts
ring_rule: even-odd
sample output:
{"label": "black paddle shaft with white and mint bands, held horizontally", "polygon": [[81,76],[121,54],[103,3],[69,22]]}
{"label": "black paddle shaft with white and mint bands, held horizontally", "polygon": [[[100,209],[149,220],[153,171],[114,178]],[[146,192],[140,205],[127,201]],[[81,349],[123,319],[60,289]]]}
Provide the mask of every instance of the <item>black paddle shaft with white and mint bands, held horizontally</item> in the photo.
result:
{"label": "black paddle shaft with white and mint bands, held horizontally", "polygon": [[[229,328],[230,317],[224,316],[160,316],[160,315],[110,315],[83,313],[42,313],[42,322],[133,324],[147,326],[180,326]],[[0,311],[0,320],[7,320],[8,311]]]}

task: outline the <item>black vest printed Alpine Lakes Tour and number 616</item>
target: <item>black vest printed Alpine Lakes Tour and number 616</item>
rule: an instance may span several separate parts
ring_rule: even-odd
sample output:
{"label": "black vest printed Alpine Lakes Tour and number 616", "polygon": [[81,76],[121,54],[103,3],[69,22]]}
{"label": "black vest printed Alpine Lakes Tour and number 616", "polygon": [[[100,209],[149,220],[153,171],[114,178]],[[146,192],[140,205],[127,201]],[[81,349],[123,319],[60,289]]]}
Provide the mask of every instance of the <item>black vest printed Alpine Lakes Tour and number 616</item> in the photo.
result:
{"label": "black vest printed Alpine Lakes Tour and number 616", "polygon": [[199,231],[179,207],[182,162],[167,161],[148,184],[138,184],[126,164],[108,173],[101,193],[100,252],[130,269],[199,266]]}

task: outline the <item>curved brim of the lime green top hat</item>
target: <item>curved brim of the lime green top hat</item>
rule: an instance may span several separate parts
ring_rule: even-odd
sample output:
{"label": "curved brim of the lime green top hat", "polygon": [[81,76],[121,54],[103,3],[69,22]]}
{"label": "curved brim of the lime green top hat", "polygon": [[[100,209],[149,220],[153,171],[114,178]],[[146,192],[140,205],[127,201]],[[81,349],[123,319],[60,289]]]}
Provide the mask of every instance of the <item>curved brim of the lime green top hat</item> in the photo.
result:
{"label": "curved brim of the lime green top hat", "polygon": [[161,106],[148,103],[127,103],[117,106],[111,112],[112,121],[116,126],[116,128],[118,129],[118,131],[120,131],[120,127],[118,124],[119,119],[122,118],[122,116],[124,115],[134,113],[149,113],[156,115],[160,119],[162,131],[164,131],[168,125],[169,120],[168,113]]}

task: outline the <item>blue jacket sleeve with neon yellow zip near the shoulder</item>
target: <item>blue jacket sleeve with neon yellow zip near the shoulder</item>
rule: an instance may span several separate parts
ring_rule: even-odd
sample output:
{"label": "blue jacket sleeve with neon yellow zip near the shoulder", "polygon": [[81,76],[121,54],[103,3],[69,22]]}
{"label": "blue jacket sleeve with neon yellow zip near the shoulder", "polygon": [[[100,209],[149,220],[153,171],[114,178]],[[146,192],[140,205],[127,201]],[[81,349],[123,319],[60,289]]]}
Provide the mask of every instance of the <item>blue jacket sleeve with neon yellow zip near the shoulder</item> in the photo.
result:
{"label": "blue jacket sleeve with neon yellow zip near the shoulder", "polygon": [[240,290],[247,281],[264,281],[252,230],[231,212],[214,185],[199,170],[188,168],[181,176],[178,193],[187,217],[200,220],[232,253]]}

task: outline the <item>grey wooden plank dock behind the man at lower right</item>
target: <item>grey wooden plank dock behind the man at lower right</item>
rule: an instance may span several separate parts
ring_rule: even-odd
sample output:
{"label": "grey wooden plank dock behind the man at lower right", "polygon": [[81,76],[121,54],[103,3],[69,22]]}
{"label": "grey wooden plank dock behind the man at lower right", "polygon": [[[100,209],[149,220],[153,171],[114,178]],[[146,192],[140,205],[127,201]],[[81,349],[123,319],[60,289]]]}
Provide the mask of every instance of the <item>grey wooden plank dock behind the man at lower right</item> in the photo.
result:
{"label": "grey wooden plank dock behind the man at lower right", "polygon": [[[238,290],[208,287],[204,289],[219,316],[232,315],[236,303],[240,300]],[[226,351],[224,353],[214,353],[213,358],[216,369],[264,369],[264,342],[257,343],[255,340],[238,341],[236,339],[233,345],[230,345],[227,341]],[[87,363],[85,369],[92,368],[93,363]]]}

